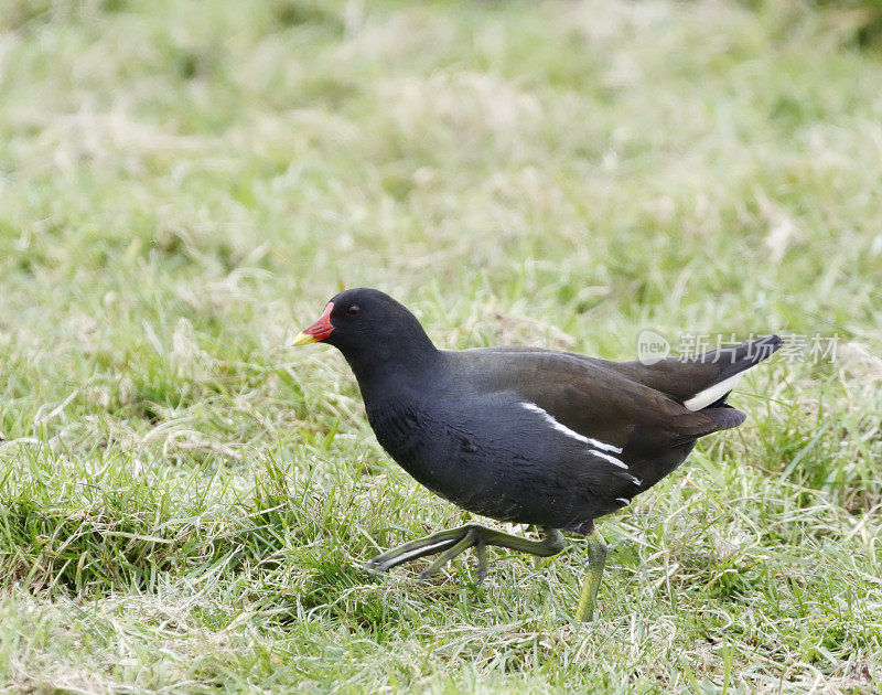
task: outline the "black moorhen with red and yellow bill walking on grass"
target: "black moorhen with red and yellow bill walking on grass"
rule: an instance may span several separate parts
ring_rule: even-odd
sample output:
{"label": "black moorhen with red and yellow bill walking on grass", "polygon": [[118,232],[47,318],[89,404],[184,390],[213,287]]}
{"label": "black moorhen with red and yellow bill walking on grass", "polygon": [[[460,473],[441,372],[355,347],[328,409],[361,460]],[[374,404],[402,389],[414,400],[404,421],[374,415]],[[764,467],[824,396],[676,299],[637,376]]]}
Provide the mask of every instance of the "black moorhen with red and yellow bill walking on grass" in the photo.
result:
{"label": "black moorhen with red and yellow bill walking on grass", "polygon": [[370,427],[408,473],[470,512],[544,531],[530,541],[466,524],[368,567],[440,553],[427,578],[474,546],[482,581],[487,545],[545,557],[563,548],[560,530],[571,531],[589,537],[577,620],[591,620],[606,560],[594,520],[670,473],[699,437],[741,425],[746,416],[725,404],[729,392],[781,346],[768,335],[652,365],[537,348],[445,351],[404,306],[366,288],[335,296],[293,344],[316,341],[343,353]]}

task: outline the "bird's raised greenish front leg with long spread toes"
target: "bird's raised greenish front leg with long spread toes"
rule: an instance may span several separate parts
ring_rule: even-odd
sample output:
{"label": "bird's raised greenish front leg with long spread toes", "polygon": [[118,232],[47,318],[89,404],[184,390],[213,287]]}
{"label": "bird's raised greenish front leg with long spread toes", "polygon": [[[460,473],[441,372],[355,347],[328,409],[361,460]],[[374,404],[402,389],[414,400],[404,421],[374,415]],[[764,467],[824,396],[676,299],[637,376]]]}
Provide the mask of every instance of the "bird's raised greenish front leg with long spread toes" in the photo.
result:
{"label": "bird's raised greenish front leg with long spread toes", "polygon": [[563,549],[563,535],[557,528],[544,528],[544,533],[545,536],[541,541],[530,541],[478,524],[466,524],[459,528],[432,534],[419,541],[405,543],[372,559],[367,564],[367,568],[374,571],[387,571],[401,563],[441,553],[441,557],[420,574],[420,579],[428,579],[447,563],[474,546],[477,555],[477,584],[481,584],[487,575],[486,546],[488,545],[529,553],[540,557],[560,553]]}

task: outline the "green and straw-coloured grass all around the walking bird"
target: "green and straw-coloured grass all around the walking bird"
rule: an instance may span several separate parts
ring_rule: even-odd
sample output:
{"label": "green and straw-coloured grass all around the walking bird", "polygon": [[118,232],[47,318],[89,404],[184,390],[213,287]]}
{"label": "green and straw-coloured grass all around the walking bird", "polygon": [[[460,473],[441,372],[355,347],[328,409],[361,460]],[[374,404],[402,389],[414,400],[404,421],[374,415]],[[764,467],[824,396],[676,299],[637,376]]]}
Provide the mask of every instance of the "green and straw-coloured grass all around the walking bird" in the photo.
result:
{"label": "green and straw-coloured grass all around the walking bird", "polygon": [[[864,4],[12,0],[0,684],[878,692]],[[444,348],[839,344],[756,368],[742,428],[604,520],[577,626],[579,538],[492,552],[482,587],[472,558],[358,569],[467,516],[384,455],[338,354],[287,348],[354,286]]]}

